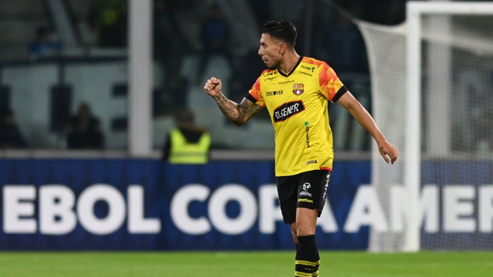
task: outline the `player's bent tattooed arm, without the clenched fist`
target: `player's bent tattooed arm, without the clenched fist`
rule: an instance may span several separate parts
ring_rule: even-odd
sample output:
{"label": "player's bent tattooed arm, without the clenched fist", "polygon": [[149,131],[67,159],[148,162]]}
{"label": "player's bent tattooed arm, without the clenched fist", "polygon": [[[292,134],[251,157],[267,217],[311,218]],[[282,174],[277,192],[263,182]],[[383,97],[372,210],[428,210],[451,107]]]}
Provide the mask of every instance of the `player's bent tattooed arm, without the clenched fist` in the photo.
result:
{"label": "player's bent tattooed arm, without the clenched fist", "polygon": [[214,96],[214,100],[216,100],[222,113],[238,126],[249,121],[254,114],[262,109],[262,107],[250,102],[247,98],[243,98],[241,103],[237,104],[226,98],[222,93]]}

